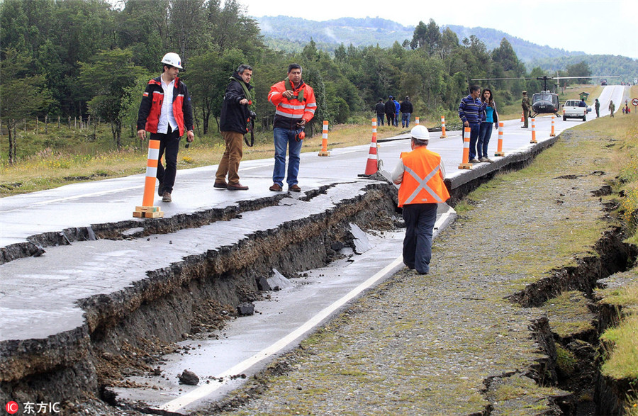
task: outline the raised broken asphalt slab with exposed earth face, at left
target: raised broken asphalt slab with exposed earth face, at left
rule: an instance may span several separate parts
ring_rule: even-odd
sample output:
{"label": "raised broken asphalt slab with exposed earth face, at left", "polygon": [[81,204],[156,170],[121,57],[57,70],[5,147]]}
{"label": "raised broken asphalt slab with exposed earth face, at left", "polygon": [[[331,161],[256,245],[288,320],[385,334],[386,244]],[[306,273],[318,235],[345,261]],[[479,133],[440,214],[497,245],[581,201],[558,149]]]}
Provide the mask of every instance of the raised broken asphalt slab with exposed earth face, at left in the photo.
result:
{"label": "raised broken asphalt slab with exposed earth face, at left", "polygon": [[[103,357],[145,347],[146,339],[182,339],[198,305],[251,300],[259,296],[258,277],[274,267],[293,276],[327,264],[333,243],[352,242],[350,223],[391,225],[393,190],[364,180],[303,198],[278,194],[228,221],[182,223],[168,234],[130,237],[113,224],[119,239],[49,247],[43,257],[3,264],[0,400],[98,395],[106,382],[96,371]],[[194,215],[196,222],[202,216]],[[26,304],[28,298],[43,302]]]}

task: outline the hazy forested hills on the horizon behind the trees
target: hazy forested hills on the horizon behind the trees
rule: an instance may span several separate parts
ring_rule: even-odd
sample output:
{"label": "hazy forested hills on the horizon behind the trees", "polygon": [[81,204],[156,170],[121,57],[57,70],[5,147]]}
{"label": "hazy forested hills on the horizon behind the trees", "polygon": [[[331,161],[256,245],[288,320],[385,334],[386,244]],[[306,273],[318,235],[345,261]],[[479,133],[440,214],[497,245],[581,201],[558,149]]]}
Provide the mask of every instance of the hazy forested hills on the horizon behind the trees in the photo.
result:
{"label": "hazy forested hills on the horizon behind the trees", "polygon": [[[330,21],[310,21],[289,16],[262,16],[255,18],[259,23],[267,45],[279,50],[298,52],[312,38],[320,49],[332,51],[343,43],[359,46],[390,47],[393,43],[402,44],[404,40],[412,40],[413,26],[402,26],[384,18],[337,18]],[[427,23],[427,22],[425,22]],[[488,28],[466,28],[464,26],[441,26],[441,30],[449,27],[457,33],[459,41],[476,35],[488,50],[500,45],[503,38],[512,44],[518,59],[522,62],[542,60],[545,58],[584,55],[585,52],[569,52],[549,46],[540,46],[522,40],[500,30]]]}

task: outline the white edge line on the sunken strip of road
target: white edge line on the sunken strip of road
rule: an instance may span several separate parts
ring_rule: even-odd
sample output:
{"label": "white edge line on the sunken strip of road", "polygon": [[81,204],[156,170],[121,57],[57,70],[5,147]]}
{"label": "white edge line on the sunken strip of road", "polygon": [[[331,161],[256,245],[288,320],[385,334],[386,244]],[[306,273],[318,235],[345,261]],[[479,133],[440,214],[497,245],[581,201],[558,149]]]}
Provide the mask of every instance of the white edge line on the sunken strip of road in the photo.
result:
{"label": "white edge line on the sunken strip of road", "polygon": [[[435,223],[435,229],[440,228],[442,227],[442,225],[447,223],[447,220],[449,219],[450,215],[453,215],[453,213],[454,211],[452,211],[452,213],[448,212],[448,213],[442,214],[441,217],[438,218],[437,222]],[[190,405],[191,403],[196,402],[197,400],[201,400],[202,398],[205,398],[207,395],[210,395],[211,393],[215,392],[216,390],[224,386],[225,383],[227,383],[230,376],[236,376],[237,374],[241,374],[247,369],[250,369],[250,367],[259,363],[259,361],[262,361],[264,359],[269,358],[270,356],[274,356],[275,354],[278,354],[279,352],[281,352],[281,350],[283,350],[284,348],[292,344],[294,341],[296,341],[298,337],[301,337],[306,332],[312,330],[315,326],[319,325],[321,322],[323,322],[323,320],[325,320],[330,315],[332,315],[332,313],[334,313],[336,310],[341,308],[343,305],[348,303],[353,298],[357,297],[359,293],[362,293],[366,289],[374,286],[374,284],[376,284],[379,280],[383,279],[384,276],[386,276],[388,273],[390,273],[393,269],[395,269],[400,264],[403,264],[403,257],[397,257],[396,259],[394,259],[390,264],[385,266],[380,271],[376,272],[374,276],[371,276],[368,280],[364,281],[359,286],[352,289],[352,291],[349,291],[345,296],[342,296],[342,298],[335,301],[335,303],[332,303],[332,305],[321,310],[317,315],[311,317],[310,320],[303,323],[303,325],[298,327],[289,335],[286,335],[286,337],[279,339],[279,341],[275,342],[270,347],[262,349],[262,351],[258,352],[257,354],[254,354],[250,358],[245,359],[239,364],[236,364],[232,368],[224,371],[219,376],[216,376],[216,378],[223,378],[223,381],[220,381],[219,383],[206,384],[204,386],[200,386],[196,388],[195,390],[191,390],[189,393],[186,393],[185,395],[182,395],[179,398],[171,400],[168,403],[164,403],[164,405],[159,407],[159,410],[166,410],[167,412],[177,412],[177,410],[180,410],[186,407],[187,405]]]}

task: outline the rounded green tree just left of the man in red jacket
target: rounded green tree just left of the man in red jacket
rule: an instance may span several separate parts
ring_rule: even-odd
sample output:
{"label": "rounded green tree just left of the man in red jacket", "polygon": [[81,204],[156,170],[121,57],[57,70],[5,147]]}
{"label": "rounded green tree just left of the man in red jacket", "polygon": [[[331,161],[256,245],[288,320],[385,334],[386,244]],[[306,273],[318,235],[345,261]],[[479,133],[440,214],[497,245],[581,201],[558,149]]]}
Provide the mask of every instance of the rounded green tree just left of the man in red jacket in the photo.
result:
{"label": "rounded green tree just left of the man in red jacket", "polygon": [[80,62],[80,83],[93,98],[89,112],[111,123],[113,142],[121,149],[122,125],[137,78],[145,71],[133,63],[131,50],[104,50],[89,62]]}

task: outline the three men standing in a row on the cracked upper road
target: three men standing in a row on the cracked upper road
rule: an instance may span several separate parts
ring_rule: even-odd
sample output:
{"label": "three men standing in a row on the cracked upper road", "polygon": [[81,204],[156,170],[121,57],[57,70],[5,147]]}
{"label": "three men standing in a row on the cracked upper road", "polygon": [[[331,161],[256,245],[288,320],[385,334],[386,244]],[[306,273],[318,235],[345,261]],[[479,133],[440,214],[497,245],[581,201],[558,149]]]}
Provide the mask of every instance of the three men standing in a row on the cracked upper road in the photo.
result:
{"label": "three men standing in a row on the cracked upper road", "polygon": [[[172,191],[177,174],[177,153],[179,142],[186,133],[186,141],[195,138],[193,130],[193,109],[186,84],[177,77],[181,59],[177,53],[169,52],[162,58],[162,74],[148,81],[142,103],[138,111],[138,137],[145,140],[147,132],[150,140],[159,141],[157,164],[157,193],[162,202],[172,201]],[[275,106],[273,140],[275,162],[271,191],[282,191],[284,179],[288,190],[300,192],[297,175],[301,160],[301,145],[305,137],[306,124],[315,116],[317,103],[315,92],[301,78],[301,65],[290,64],[288,76],[270,88],[268,101]],[[220,131],[224,138],[225,150],[221,157],[215,183],[218,189],[245,191],[248,186],[240,183],[237,173],[243,155],[244,135],[250,131],[254,113],[250,106],[254,101],[252,67],[241,64],[230,76],[220,113]],[[286,153],[289,153],[286,172]],[[164,165],[162,165],[162,156]],[[287,173],[287,177],[286,177]],[[226,178],[228,177],[228,181]]]}

